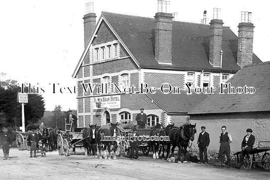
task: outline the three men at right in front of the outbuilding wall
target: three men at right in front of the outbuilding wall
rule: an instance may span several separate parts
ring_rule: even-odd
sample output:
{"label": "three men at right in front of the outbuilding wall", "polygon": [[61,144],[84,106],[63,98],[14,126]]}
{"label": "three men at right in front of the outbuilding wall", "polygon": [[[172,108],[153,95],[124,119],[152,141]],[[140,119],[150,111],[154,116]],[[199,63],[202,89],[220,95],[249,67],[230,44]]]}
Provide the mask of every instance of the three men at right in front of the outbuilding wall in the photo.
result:
{"label": "three men at right in front of the outbuilding wall", "polygon": [[[206,127],[201,127],[202,132],[199,134],[198,146],[200,152],[200,162],[203,164],[208,164],[207,149],[210,143],[209,133],[205,131]],[[241,144],[241,154],[240,154],[240,168],[243,168],[244,156],[248,155],[252,150],[255,143],[255,136],[252,135],[252,129],[248,128],[246,130],[247,135],[244,136],[244,139]],[[225,155],[227,157],[227,164],[230,165],[230,143],[233,142],[232,135],[226,131],[226,126],[221,127],[221,134],[219,135],[219,158],[221,159],[221,167],[224,165]]]}

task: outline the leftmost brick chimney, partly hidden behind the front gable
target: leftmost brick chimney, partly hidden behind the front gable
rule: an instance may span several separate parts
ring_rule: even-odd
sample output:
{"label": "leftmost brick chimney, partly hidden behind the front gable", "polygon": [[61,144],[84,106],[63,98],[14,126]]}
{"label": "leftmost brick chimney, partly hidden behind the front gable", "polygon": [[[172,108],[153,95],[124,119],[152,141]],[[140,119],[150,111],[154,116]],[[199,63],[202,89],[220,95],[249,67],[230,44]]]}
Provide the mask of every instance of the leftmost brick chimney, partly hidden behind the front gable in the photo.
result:
{"label": "leftmost brick chimney, partly hidden behind the front gable", "polygon": [[94,13],[94,3],[90,2],[86,4],[86,15],[84,15],[85,25],[85,47],[87,42],[96,26],[96,14]]}

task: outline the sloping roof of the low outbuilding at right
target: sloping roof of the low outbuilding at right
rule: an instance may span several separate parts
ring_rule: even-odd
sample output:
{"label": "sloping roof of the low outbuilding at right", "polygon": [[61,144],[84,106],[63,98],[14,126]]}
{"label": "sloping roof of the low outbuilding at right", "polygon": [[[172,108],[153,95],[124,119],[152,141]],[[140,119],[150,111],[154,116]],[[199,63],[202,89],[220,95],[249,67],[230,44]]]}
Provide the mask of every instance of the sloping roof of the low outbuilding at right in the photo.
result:
{"label": "sloping roof of the low outbuilding at right", "polygon": [[255,88],[254,94],[209,95],[189,114],[242,113],[270,111],[270,61],[244,66],[227,83]]}

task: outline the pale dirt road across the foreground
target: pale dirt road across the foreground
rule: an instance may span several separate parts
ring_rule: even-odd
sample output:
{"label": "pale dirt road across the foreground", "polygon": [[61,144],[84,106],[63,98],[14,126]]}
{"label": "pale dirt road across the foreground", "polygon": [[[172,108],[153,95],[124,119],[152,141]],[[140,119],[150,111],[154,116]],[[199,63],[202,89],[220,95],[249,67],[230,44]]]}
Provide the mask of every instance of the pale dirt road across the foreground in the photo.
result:
{"label": "pale dirt road across the foreground", "polygon": [[[80,150],[80,149],[79,149]],[[238,170],[215,165],[172,163],[140,156],[105,160],[85,157],[83,151],[69,157],[58,152],[29,158],[29,151],[11,149],[10,160],[0,154],[0,179],[270,179],[270,171]]]}

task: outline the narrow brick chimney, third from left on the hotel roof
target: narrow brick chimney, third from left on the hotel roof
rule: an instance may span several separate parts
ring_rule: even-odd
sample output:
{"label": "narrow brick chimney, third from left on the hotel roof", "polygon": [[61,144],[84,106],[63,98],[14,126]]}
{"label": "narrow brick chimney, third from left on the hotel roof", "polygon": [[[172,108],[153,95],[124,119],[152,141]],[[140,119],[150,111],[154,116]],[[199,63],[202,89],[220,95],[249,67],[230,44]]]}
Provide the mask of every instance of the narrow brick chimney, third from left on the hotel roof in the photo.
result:
{"label": "narrow brick chimney, third from left on the hotel roof", "polygon": [[214,8],[213,19],[210,21],[209,62],[214,67],[221,67],[220,52],[222,47],[222,20],[220,9]]}

